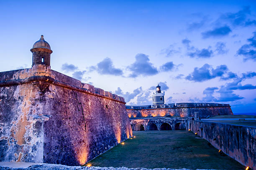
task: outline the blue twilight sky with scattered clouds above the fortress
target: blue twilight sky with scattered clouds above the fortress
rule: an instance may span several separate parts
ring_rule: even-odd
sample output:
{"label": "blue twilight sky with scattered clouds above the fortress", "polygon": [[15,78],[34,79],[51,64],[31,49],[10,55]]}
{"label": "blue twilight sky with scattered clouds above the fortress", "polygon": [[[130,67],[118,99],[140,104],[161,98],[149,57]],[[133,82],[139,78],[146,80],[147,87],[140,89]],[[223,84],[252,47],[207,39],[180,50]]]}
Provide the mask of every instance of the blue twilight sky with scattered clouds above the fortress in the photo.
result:
{"label": "blue twilight sky with scattered clouds above the fortress", "polygon": [[151,104],[228,103],[256,112],[256,1],[0,0],[0,71],[31,67],[40,35],[51,69]]}

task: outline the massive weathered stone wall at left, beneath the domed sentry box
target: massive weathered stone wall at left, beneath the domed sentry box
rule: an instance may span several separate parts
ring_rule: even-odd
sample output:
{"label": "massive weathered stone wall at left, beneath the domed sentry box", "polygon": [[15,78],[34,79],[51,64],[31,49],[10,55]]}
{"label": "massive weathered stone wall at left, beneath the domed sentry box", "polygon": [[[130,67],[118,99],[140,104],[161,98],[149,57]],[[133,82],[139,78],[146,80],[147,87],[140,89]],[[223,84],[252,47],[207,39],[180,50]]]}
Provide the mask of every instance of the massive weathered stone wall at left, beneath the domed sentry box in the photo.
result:
{"label": "massive weathered stone wall at left, beneath the domed sentry box", "polygon": [[132,136],[123,97],[34,73],[0,72],[0,161],[83,165]]}

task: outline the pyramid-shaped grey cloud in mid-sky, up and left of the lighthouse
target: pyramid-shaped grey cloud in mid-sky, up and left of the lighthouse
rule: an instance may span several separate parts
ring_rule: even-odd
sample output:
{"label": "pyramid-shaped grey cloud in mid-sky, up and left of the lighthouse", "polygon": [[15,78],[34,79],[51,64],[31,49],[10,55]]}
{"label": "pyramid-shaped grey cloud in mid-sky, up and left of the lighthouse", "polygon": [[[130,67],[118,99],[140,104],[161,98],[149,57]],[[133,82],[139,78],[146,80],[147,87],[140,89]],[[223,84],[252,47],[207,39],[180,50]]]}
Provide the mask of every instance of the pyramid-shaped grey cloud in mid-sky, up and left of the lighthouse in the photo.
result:
{"label": "pyramid-shaped grey cloud in mid-sky, up and left of the lighthouse", "polygon": [[136,61],[128,66],[128,70],[132,73],[129,77],[138,77],[139,75],[148,76],[148,75],[156,75],[158,70],[153,66],[151,62],[149,62],[148,55],[145,54],[137,54],[135,56]]}

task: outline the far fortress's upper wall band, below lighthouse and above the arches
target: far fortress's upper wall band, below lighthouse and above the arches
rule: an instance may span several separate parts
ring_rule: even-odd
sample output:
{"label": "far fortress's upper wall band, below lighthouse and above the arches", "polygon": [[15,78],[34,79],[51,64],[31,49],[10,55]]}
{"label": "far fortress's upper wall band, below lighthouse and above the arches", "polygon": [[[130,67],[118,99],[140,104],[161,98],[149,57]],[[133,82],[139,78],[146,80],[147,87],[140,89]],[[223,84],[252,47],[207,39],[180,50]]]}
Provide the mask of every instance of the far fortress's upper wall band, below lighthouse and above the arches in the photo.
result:
{"label": "far fortress's upper wall band, below lighthouse and above the arches", "polygon": [[160,108],[145,106],[126,106],[128,117],[200,117],[206,118],[215,115],[233,115],[228,104],[218,103],[174,103],[160,105]]}

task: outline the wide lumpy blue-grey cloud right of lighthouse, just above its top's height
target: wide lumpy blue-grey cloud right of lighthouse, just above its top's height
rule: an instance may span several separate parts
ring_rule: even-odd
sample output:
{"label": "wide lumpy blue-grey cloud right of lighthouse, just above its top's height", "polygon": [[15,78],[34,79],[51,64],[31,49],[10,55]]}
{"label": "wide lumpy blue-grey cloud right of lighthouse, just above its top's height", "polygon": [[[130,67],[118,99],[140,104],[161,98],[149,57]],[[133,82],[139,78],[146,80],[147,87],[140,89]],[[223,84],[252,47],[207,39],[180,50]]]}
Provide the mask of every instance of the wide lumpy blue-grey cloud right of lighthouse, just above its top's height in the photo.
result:
{"label": "wide lumpy blue-grey cloud right of lighthouse, just above its top's height", "polygon": [[205,64],[201,68],[195,67],[194,71],[185,77],[185,79],[195,82],[203,82],[215,77],[222,77],[227,71],[228,67],[226,65],[219,65],[214,69],[212,66]]}

